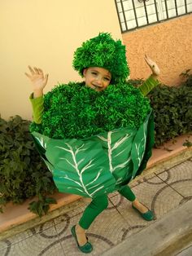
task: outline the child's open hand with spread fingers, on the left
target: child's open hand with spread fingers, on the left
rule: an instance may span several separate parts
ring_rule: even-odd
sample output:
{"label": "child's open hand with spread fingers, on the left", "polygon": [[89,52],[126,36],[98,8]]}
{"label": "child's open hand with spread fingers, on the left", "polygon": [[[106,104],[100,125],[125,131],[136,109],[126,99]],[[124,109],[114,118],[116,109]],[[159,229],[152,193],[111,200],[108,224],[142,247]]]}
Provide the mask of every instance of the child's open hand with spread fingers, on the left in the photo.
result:
{"label": "child's open hand with spread fingers, on the left", "polygon": [[33,84],[33,91],[37,90],[43,90],[46,86],[47,80],[48,80],[48,74],[44,76],[43,71],[41,68],[32,68],[28,66],[28,69],[30,71],[30,74],[25,73],[25,75],[30,79],[30,81]]}

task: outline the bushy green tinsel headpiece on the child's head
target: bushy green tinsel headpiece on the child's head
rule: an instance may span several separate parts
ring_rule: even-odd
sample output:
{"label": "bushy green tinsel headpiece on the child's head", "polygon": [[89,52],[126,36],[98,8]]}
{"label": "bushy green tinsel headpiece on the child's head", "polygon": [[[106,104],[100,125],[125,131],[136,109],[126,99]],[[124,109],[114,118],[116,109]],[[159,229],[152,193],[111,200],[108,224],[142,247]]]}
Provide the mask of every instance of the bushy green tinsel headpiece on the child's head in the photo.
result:
{"label": "bushy green tinsel headpiece on the child's head", "polygon": [[81,77],[85,68],[106,68],[112,76],[111,84],[124,82],[129,76],[125,46],[111,38],[110,33],[99,33],[98,37],[83,42],[76,49],[72,64]]}

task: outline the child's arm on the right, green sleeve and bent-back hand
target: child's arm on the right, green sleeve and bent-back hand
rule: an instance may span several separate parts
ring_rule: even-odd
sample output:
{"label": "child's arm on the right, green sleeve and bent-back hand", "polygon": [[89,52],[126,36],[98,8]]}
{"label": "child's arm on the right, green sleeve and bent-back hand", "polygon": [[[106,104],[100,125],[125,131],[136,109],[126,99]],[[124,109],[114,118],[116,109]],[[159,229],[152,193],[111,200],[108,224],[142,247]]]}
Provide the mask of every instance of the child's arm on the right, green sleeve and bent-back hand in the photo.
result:
{"label": "child's arm on the right, green sleeve and bent-back hand", "polygon": [[148,66],[151,68],[152,74],[148,79],[146,79],[145,82],[143,82],[142,86],[139,87],[139,90],[141,90],[144,96],[146,96],[155,86],[159,84],[157,78],[160,73],[158,65],[147,55],[145,56],[145,60],[146,64],[148,64]]}

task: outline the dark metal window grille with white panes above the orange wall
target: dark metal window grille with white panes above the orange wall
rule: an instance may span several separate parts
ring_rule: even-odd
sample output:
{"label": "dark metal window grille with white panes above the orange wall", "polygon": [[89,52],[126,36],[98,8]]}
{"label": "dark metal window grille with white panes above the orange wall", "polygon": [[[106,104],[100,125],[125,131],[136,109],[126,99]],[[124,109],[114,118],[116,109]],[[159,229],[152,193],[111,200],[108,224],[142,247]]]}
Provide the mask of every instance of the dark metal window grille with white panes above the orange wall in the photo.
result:
{"label": "dark metal window grille with white panes above the orange wall", "polygon": [[192,0],[115,0],[121,32],[192,12]]}

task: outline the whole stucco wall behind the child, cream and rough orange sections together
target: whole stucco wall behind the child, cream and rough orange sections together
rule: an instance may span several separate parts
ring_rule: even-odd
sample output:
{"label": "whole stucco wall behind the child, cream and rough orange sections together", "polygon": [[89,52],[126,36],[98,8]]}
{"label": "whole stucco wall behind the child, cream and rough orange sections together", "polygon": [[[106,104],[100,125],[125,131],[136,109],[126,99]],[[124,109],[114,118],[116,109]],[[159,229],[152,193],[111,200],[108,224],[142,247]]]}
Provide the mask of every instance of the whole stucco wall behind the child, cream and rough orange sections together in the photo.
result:
{"label": "whole stucco wall behind the child, cream and rough orange sections together", "polygon": [[32,118],[31,85],[24,76],[28,64],[49,73],[45,92],[58,82],[79,81],[73,52],[99,32],[123,38],[132,78],[150,75],[145,53],[159,64],[160,81],[171,86],[192,68],[192,15],[121,35],[111,0],[2,0],[0,31],[0,113],[6,119],[15,114]]}

